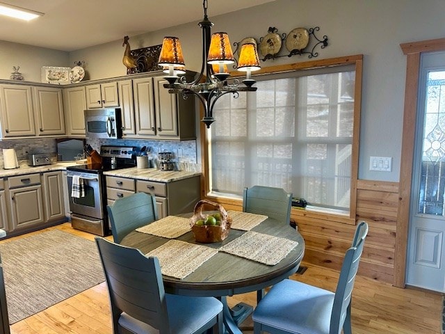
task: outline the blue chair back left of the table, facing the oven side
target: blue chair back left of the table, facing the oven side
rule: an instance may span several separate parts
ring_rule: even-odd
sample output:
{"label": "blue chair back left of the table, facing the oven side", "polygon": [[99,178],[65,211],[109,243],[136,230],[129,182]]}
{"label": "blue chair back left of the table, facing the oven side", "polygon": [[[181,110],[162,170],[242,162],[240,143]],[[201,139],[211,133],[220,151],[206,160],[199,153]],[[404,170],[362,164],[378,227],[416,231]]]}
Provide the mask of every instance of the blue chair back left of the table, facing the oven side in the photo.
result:
{"label": "blue chair back left of the table, facing the oven side", "polygon": [[156,198],[153,194],[134,193],[119,198],[113,205],[107,205],[106,210],[116,244],[120,244],[129,232],[158,220]]}

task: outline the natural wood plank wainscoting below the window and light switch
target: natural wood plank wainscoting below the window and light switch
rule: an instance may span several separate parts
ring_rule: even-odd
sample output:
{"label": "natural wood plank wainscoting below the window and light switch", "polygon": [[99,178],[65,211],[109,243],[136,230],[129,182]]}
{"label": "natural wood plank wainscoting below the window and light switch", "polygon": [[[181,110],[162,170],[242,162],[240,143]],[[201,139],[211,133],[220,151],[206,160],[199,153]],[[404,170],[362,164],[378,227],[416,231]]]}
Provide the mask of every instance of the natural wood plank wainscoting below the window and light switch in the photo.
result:
{"label": "natural wood plank wainscoting below the window and light switch", "polygon": [[[225,198],[208,198],[226,210],[243,209],[242,202]],[[359,275],[385,283],[393,283],[398,182],[357,180],[356,221],[369,224]],[[340,270],[346,250],[350,247],[355,225],[345,218],[335,221],[329,214],[312,213],[292,208],[291,218],[305,239],[305,257],[309,264]]]}

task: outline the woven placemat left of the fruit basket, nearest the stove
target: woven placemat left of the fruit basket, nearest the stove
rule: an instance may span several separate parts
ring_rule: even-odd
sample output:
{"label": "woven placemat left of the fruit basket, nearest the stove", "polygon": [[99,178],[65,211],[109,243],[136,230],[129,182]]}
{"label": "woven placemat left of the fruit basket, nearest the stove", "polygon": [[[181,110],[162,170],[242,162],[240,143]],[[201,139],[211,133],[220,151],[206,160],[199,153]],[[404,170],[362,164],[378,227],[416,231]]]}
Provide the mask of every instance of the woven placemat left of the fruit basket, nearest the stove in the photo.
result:
{"label": "woven placemat left of the fruit basket, nearest the stove", "polygon": [[159,219],[159,221],[154,221],[142,228],[136,228],[136,231],[153,234],[158,237],[175,239],[181,237],[182,234],[191,231],[190,219],[177,216],[166,216]]}

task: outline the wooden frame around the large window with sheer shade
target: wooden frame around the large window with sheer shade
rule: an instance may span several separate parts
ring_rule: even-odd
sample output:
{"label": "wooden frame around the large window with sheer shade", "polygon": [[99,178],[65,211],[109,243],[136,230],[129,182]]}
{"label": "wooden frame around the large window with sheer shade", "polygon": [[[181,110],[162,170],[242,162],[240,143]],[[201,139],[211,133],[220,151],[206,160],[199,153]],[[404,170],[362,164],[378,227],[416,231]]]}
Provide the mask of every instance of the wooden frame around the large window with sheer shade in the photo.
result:
{"label": "wooden frame around the large window with sheer shade", "polygon": [[[363,67],[363,55],[343,56],[338,58],[328,58],[317,61],[305,61],[300,63],[292,63],[286,65],[275,65],[269,67],[262,67],[261,70],[255,72],[253,77],[276,74],[285,72],[296,72],[310,70],[314,68],[323,67],[336,67],[343,65],[354,65],[355,67],[355,90],[354,90],[354,127],[353,127],[353,143],[352,143],[352,161],[351,161],[351,184],[350,184],[350,209],[349,214],[341,214],[338,212],[332,212],[329,209],[292,209],[292,215],[306,216],[312,218],[326,218],[328,217],[332,221],[341,223],[348,223],[355,225],[356,222],[356,210],[357,210],[357,179],[358,179],[358,158],[359,158],[359,130],[360,130],[360,113],[362,105],[362,67]],[[243,72],[232,72],[231,76],[243,77]],[[202,109],[201,109],[202,113]],[[207,130],[205,125],[201,123],[201,148],[202,148],[202,197],[212,200],[213,202],[219,202],[226,205],[228,209],[239,209],[242,207],[242,199],[230,198],[223,196],[216,196],[214,194],[209,195],[210,192],[210,180],[209,171],[211,170],[211,145],[209,140],[210,130]]]}

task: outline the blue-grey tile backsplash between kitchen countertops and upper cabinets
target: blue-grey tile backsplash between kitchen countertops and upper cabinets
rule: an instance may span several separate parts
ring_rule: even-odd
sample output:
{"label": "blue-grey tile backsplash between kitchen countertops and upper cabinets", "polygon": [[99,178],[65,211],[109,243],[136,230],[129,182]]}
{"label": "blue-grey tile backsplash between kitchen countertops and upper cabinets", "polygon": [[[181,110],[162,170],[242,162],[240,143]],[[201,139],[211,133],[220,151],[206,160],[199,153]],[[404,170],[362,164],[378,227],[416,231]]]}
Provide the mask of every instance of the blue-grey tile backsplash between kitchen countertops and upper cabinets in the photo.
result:
{"label": "blue-grey tile backsplash between kitchen countertops and upper cabinets", "polygon": [[[101,145],[135,146],[142,148],[147,146],[154,159],[159,152],[172,152],[173,160],[178,164],[193,164],[197,170],[201,170],[197,164],[196,141],[145,141],[136,139],[105,139],[88,140],[92,148],[99,151]],[[57,152],[55,138],[30,138],[23,140],[0,141],[0,168],[3,168],[3,148],[13,148],[17,154],[19,165],[26,164],[28,153],[54,153]]]}

